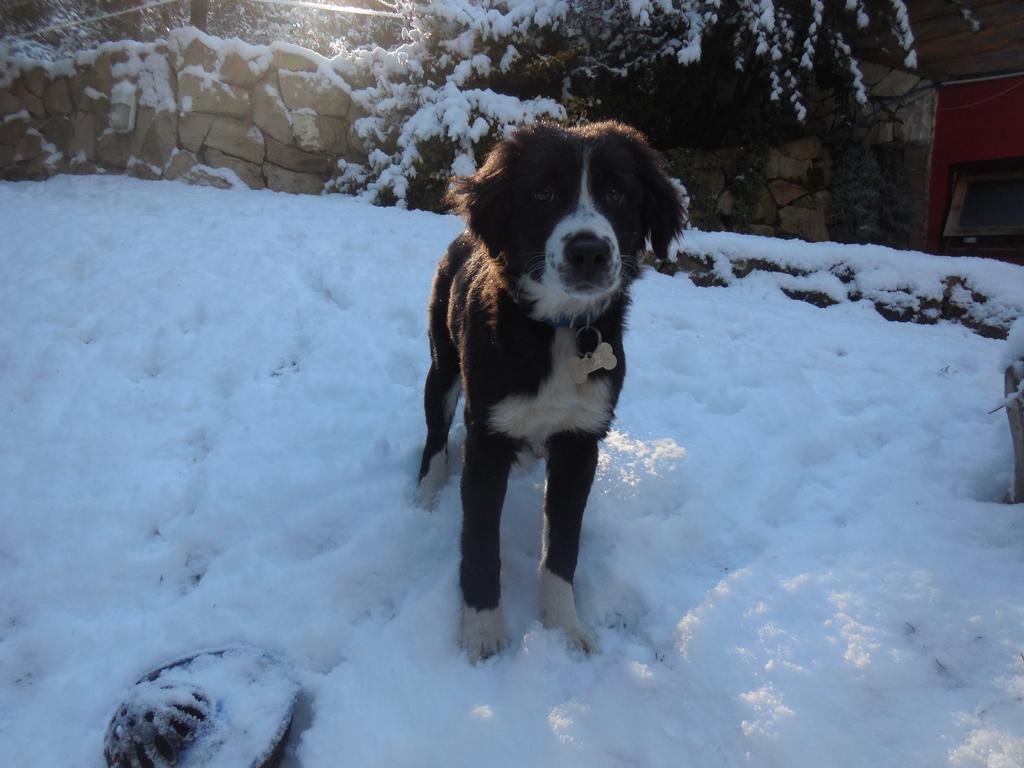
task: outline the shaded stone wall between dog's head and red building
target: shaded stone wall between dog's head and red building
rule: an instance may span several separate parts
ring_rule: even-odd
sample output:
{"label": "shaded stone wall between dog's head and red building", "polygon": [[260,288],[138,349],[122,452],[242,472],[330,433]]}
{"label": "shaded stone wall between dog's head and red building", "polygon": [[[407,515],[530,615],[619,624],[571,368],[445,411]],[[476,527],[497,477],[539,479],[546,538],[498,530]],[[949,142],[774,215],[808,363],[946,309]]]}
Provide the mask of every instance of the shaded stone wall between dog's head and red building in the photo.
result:
{"label": "shaded stone wall between dog's head and red building", "polygon": [[822,93],[812,102],[811,135],[775,146],[669,151],[671,172],[690,193],[691,223],[923,248],[935,86],[889,67],[862,69],[863,126],[850,126]]}

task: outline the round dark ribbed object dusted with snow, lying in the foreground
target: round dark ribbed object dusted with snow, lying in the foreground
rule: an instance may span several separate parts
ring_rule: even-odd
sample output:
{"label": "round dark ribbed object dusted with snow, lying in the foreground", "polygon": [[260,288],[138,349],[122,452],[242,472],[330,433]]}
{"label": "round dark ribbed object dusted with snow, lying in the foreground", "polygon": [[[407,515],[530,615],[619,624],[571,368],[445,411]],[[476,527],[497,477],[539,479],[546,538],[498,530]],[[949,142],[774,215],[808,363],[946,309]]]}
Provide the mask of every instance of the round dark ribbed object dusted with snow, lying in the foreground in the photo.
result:
{"label": "round dark ribbed object dusted with snow, lying in the foreground", "polygon": [[144,675],[106,729],[110,768],[273,768],[299,686],[256,648],[203,651]]}

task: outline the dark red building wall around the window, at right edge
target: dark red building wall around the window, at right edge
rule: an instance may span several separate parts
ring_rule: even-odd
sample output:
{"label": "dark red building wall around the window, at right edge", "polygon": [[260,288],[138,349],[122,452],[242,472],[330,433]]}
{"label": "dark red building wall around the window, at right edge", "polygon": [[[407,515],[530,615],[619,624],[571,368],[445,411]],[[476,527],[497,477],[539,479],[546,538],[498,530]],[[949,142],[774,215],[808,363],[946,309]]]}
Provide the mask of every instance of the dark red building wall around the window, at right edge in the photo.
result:
{"label": "dark red building wall around the window, at right edge", "polygon": [[[951,252],[942,230],[957,171],[1024,164],[1024,75],[945,85],[939,90],[932,143],[928,250]],[[980,246],[980,244],[979,244]],[[984,252],[979,247],[978,253]],[[1017,253],[1008,254],[1020,256]]]}

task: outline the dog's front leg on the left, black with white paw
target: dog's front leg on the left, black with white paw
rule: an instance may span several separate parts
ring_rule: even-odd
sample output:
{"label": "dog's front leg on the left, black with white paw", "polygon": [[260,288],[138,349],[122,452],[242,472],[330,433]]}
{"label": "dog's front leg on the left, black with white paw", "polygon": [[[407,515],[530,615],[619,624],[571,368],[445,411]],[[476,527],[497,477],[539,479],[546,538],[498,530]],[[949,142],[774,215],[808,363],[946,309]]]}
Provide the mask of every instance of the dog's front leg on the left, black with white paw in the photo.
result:
{"label": "dog's front leg on the left, black with white paw", "polygon": [[462,646],[471,662],[508,645],[502,615],[501,519],[515,443],[484,428],[466,435],[462,473]]}

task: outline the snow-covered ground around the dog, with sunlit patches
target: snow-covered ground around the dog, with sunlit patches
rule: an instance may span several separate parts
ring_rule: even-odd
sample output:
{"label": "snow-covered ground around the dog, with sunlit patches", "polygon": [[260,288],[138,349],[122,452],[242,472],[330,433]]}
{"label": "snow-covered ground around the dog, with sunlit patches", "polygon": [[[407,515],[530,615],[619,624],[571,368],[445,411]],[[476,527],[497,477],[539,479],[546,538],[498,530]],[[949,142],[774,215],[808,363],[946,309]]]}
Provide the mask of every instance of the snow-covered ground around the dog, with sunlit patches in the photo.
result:
{"label": "snow-covered ground around the dog, with sunlit patches", "polygon": [[459,229],[0,184],[5,766],[101,766],[138,675],[230,642],[296,666],[293,767],[1024,765],[1024,509],[986,413],[1006,342],[756,274],[636,286],[578,573],[602,652],[537,621],[535,465],[503,520],[515,641],[471,667],[458,477],[413,504]]}

